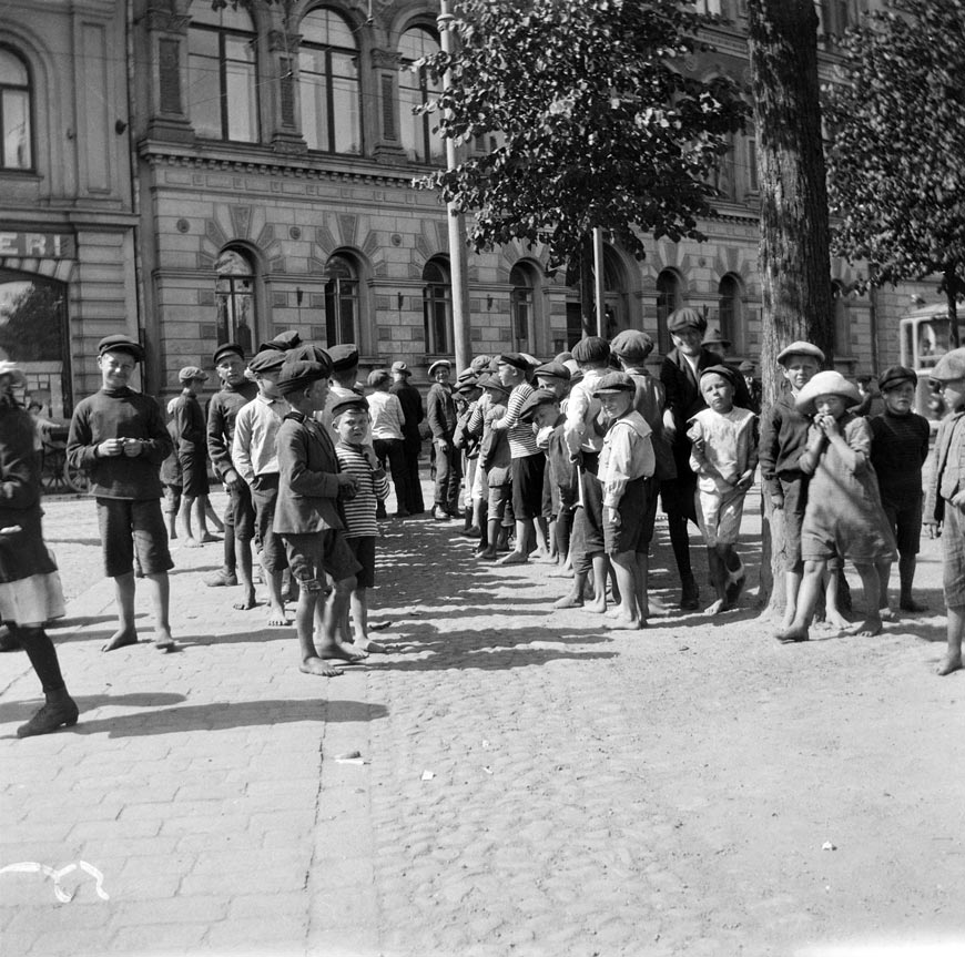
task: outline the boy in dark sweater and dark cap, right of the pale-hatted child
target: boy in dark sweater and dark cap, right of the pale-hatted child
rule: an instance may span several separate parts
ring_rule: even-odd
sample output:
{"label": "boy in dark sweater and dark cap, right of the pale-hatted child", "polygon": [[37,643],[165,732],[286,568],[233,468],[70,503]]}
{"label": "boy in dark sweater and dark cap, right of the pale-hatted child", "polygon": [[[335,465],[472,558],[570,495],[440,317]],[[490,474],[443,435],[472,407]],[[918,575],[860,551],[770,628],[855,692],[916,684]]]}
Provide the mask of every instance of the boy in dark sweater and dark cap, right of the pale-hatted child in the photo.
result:
{"label": "boy in dark sweater and dark cap, right of the pale-hatted child", "polygon": [[[884,411],[868,419],[871,464],[877,474],[881,503],[898,546],[898,608],[925,611],[912,597],[915,562],[922,540],[924,490],[922,466],[928,457],[928,420],[912,410],[918,377],[905,366],[892,366],[878,378]],[[888,607],[887,583],[891,568],[878,570],[882,615],[893,617]]]}

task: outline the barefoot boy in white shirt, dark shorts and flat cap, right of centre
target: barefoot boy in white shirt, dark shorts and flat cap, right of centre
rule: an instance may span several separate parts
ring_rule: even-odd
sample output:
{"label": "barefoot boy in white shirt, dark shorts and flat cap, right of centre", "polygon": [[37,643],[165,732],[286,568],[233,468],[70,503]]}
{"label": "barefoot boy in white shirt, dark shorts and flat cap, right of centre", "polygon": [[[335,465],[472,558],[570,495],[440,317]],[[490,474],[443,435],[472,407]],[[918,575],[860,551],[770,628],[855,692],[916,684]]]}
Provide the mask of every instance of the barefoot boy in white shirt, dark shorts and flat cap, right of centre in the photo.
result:
{"label": "barefoot boy in white shirt, dark shorts and flat cap, right of centre", "polygon": [[634,408],[637,384],[626,373],[610,373],[597,384],[608,422],[600,451],[603,487],[603,542],[613,564],[620,605],[616,627],[647,627],[647,552],[653,537],[649,481],[656,459],[650,426]]}

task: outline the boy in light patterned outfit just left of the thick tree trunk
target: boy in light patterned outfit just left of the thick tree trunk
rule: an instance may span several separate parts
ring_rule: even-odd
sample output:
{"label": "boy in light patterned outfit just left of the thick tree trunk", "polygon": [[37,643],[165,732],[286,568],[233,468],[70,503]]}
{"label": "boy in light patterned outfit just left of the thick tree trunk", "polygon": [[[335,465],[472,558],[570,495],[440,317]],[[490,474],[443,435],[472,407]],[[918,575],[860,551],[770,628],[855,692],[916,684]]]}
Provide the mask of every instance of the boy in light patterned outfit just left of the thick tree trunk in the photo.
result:
{"label": "boy in light patterned outfit just left of the thick tree trunk", "polygon": [[692,442],[690,467],[697,472],[697,518],[717,592],[708,614],[734,608],[744,587],[737,543],[744,497],[758,467],[758,417],[734,407],[735,375],[727,366],[710,366],[700,374],[708,407],[690,419],[687,432]]}

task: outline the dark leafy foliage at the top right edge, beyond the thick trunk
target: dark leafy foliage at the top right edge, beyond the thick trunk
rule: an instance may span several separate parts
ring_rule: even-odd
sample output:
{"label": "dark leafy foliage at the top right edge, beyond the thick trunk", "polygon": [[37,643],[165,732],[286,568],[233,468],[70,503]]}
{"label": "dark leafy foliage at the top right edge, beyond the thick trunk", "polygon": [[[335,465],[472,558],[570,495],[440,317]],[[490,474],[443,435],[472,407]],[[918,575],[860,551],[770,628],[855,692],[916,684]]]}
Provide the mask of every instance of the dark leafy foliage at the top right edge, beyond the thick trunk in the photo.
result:
{"label": "dark leafy foliage at the top right edge, beyond the thick trunk", "polygon": [[[875,285],[965,279],[965,0],[892,0],[842,40],[826,90],[833,252]],[[953,323],[954,327],[954,323]]]}

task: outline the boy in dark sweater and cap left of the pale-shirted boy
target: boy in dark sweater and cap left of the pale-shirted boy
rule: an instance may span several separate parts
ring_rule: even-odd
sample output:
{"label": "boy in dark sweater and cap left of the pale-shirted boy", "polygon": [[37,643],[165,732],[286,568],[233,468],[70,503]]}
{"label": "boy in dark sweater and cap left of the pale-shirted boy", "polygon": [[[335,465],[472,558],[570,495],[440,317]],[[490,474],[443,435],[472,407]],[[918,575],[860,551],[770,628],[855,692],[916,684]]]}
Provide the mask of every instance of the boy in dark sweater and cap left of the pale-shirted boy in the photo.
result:
{"label": "boy in dark sweater and cap left of the pale-shirted boy", "polygon": [[207,456],[227,491],[228,507],[224,516],[224,566],[206,576],[204,583],[233,586],[241,579],[244,588],[242,604],[253,608],[255,507],[251,489],[235,468],[231,452],[237,414],[257,395],[258,387],[245,377],[245,353],[240,344],[219,346],[212,362],[221,379],[221,390],[207,404]]}

